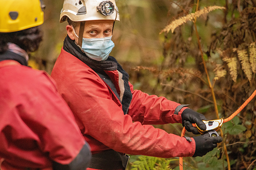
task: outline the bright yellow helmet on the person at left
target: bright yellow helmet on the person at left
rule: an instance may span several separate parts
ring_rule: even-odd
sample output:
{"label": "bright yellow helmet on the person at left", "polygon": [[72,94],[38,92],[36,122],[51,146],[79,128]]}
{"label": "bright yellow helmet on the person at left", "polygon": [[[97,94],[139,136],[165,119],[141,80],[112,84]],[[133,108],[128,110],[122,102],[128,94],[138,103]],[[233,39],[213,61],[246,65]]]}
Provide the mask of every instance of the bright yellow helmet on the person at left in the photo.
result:
{"label": "bright yellow helmet on the person at left", "polygon": [[11,33],[43,24],[43,0],[0,0],[0,32]]}

